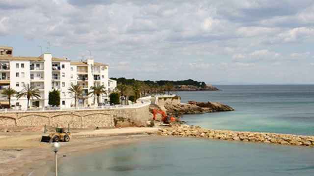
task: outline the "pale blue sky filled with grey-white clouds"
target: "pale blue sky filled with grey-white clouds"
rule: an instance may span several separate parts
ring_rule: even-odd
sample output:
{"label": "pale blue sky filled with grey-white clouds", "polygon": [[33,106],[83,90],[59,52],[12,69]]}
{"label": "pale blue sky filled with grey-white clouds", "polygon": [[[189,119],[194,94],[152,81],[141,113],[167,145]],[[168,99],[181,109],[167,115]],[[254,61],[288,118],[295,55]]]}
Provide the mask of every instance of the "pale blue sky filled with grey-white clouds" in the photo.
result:
{"label": "pale blue sky filled with grey-white clouds", "polygon": [[314,84],[313,44],[314,0],[0,0],[15,56],[93,57],[110,77]]}

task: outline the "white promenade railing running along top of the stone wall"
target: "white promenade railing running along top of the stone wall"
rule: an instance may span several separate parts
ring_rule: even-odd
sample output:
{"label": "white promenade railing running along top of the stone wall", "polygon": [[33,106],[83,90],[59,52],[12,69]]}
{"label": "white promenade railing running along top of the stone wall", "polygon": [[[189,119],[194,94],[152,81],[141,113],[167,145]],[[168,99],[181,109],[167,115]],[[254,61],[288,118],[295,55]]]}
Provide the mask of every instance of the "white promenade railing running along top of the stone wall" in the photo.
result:
{"label": "white promenade railing running along top of the stone wall", "polygon": [[33,111],[63,111],[63,110],[115,110],[115,109],[134,109],[149,106],[151,104],[151,96],[139,98],[135,104],[132,105],[113,105],[113,106],[94,106],[94,107],[72,107],[72,108],[31,108],[23,109],[0,109],[3,112],[33,112]]}

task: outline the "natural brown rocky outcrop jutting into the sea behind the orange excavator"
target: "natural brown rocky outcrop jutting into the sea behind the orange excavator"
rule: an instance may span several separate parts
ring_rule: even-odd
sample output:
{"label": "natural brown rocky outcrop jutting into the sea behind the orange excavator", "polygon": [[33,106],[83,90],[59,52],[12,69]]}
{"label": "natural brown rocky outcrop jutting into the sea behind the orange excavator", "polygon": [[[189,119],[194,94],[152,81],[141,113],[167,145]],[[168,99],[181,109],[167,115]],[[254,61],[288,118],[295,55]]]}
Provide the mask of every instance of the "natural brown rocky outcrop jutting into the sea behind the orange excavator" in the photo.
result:
{"label": "natural brown rocky outcrop jutting into the sea behind the orange excavator", "polygon": [[219,102],[195,102],[186,103],[166,103],[164,108],[168,114],[181,116],[183,114],[200,114],[219,111],[233,111],[234,109],[228,105]]}

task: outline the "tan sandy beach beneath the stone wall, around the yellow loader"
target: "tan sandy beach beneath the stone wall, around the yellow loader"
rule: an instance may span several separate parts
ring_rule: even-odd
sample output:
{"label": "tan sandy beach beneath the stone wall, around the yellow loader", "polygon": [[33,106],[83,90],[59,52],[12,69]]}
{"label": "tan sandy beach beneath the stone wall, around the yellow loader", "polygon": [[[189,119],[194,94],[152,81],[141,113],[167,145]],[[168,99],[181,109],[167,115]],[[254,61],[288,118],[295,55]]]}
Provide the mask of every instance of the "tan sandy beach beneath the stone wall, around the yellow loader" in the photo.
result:
{"label": "tan sandy beach beneath the stone wall, around the yellow loader", "polygon": [[[71,141],[61,142],[59,158],[66,155],[104,150],[115,145],[139,142],[152,137],[157,128],[122,128],[77,131]],[[0,176],[45,176],[47,164],[52,164],[51,144],[41,143],[40,132],[0,133]],[[47,134],[46,134],[47,135]]]}

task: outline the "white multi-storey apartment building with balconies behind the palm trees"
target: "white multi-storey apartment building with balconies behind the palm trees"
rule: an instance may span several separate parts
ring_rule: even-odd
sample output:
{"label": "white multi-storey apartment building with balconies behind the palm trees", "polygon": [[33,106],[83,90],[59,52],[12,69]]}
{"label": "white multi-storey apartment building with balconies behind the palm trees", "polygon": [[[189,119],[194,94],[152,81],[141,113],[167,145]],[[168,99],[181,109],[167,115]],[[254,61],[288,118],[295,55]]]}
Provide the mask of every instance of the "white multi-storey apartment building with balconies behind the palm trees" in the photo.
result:
{"label": "white multi-storey apartment building with balconies behind the palm trees", "polygon": [[[60,90],[60,107],[74,106],[73,94],[68,90],[71,84],[78,84],[83,88],[85,96],[78,100],[79,106],[95,106],[96,97],[86,95],[89,88],[97,84],[105,85],[106,90],[109,90],[108,65],[96,63],[93,59],[71,62],[67,58],[54,58],[50,53],[39,57],[15,57],[12,47],[0,46],[0,90],[10,87],[21,91],[26,84],[35,86],[40,91],[40,99],[30,100],[30,106],[33,107],[49,106],[49,92],[54,88]],[[102,95],[100,102],[107,100],[108,96]],[[5,103],[1,98],[0,104]],[[25,109],[27,99],[23,97],[17,100],[13,97],[11,105]]]}

